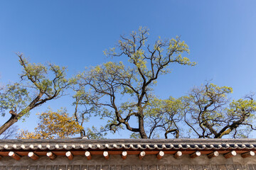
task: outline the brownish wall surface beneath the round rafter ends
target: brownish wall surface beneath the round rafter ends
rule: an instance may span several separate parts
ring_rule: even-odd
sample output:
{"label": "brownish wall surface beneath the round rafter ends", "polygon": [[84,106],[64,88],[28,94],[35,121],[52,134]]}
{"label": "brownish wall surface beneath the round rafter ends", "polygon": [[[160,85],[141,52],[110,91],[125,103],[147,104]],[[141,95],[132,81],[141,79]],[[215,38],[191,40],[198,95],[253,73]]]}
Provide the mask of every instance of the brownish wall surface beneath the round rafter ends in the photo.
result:
{"label": "brownish wall surface beneath the round rafter ends", "polygon": [[40,157],[34,161],[28,157],[22,157],[19,161],[11,157],[0,159],[0,170],[174,170],[174,169],[254,169],[256,170],[255,157],[242,158],[240,154],[235,157],[225,159],[223,155],[208,159],[206,155],[201,155],[191,159],[188,155],[183,155],[174,159],[173,155],[165,155],[162,159],[156,159],[154,155],[146,155],[143,159],[138,159],[137,155],[128,155],[127,159],[122,159],[119,155],[111,155],[110,159],[103,156],[93,156],[87,160],[82,156],[75,156],[73,160],[59,156],[55,160],[48,157]]}

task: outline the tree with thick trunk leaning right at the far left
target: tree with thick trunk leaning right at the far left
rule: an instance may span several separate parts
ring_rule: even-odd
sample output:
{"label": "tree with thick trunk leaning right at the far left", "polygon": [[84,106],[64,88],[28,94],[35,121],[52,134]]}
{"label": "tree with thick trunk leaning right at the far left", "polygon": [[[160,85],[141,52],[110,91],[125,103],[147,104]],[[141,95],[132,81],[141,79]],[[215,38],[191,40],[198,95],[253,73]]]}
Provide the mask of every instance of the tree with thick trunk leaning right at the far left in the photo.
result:
{"label": "tree with thick trunk leaning right at the far left", "polygon": [[[1,125],[0,135],[33,108],[63,96],[63,91],[69,85],[65,78],[65,67],[31,64],[22,54],[18,54],[18,58],[23,67],[21,82],[8,84],[0,95],[2,115],[8,110],[11,113],[11,118]],[[21,84],[24,81],[26,85]]]}

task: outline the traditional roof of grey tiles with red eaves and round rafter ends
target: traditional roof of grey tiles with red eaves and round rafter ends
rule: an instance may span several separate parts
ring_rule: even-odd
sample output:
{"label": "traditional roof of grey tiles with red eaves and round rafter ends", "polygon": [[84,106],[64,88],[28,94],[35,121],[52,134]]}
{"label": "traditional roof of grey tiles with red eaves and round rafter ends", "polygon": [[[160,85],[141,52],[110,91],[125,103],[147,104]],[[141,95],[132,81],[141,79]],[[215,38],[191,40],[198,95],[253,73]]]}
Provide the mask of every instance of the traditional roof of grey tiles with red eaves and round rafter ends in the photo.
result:
{"label": "traditional roof of grey tiles with red eaves and round rafter ends", "polygon": [[161,159],[165,154],[173,154],[174,158],[188,154],[191,159],[206,154],[209,159],[218,157],[230,158],[240,154],[242,158],[255,156],[255,139],[175,139],[175,140],[0,140],[0,157],[49,157],[65,156],[73,159],[84,156],[91,159],[93,155],[102,155],[108,159],[110,155],[119,154],[126,159],[128,154],[137,154],[139,159],[145,155],[155,154]]}

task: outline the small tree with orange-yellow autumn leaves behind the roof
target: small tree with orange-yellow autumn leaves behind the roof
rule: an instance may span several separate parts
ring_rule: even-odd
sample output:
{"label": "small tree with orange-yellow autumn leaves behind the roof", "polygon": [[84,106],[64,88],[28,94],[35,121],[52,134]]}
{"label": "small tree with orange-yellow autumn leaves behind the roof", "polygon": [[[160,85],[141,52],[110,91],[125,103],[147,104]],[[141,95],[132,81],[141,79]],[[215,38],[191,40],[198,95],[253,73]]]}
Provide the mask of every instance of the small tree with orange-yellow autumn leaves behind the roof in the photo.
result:
{"label": "small tree with orange-yellow autumn leaves behind the roof", "polygon": [[53,139],[68,138],[79,134],[83,129],[76,121],[75,117],[70,117],[65,110],[58,112],[48,111],[39,114],[38,126],[34,132],[21,130],[20,139]]}

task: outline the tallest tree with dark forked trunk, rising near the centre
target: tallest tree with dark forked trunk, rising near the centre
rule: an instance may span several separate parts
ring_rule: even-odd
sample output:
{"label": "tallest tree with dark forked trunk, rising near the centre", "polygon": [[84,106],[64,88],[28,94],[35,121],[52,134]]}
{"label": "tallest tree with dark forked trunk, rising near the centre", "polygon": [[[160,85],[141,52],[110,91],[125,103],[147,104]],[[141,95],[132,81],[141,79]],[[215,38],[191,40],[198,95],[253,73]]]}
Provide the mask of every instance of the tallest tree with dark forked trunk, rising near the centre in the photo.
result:
{"label": "tallest tree with dark forked trunk, rising near the centre", "polygon": [[[184,52],[188,46],[179,37],[171,40],[156,40],[154,45],[146,45],[149,30],[139,28],[129,36],[121,35],[117,47],[105,51],[110,57],[126,57],[129,64],[107,62],[86,69],[73,81],[81,89],[82,100],[89,106],[102,108],[100,115],[109,118],[110,130],[126,128],[148,138],[144,120],[146,108],[154,100],[153,86],[160,74],[168,74],[171,64],[194,66]],[[125,100],[127,98],[127,100]],[[132,118],[137,118],[138,126],[132,127]]]}

